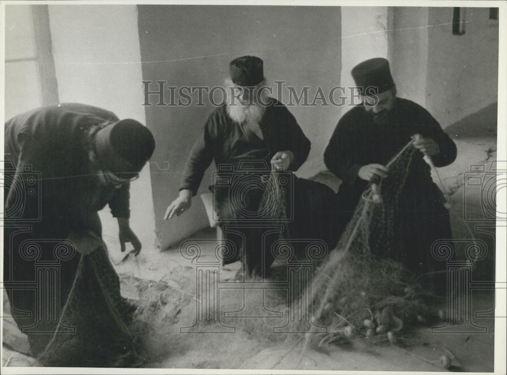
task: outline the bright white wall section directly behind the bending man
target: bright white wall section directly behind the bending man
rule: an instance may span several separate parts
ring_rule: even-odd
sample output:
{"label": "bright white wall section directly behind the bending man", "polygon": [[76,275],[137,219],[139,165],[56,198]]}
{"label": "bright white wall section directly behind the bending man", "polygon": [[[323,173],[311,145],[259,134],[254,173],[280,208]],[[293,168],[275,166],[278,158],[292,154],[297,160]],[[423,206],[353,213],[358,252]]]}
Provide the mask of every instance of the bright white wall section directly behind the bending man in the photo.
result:
{"label": "bright white wall section directly behind the bending man", "polygon": [[[60,102],[81,102],[146,123],[135,5],[50,5]],[[132,183],[131,227],[145,248],[155,243],[149,168]],[[115,219],[100,213],[104,237],[117,238]]]}

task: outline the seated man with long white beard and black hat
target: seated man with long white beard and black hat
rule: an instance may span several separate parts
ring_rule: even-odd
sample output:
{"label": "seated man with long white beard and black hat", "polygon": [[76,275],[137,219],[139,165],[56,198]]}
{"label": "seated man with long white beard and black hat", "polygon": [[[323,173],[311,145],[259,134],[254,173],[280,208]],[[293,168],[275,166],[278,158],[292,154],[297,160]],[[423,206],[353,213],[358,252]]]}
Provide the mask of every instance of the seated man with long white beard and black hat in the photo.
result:
{"label": "seated man with long white beard and black hat", "polygon": [[[251,224],[249,228],[235,229],[240,233],[224,231],[224,239],[232,241],[236,251],[223,258],[223,264],[239,260],[242,250],[244,270],[240,271],[246,276],[260,276],[267,274],[274,260],[271,240],[276,236],[268,236],[271,240],[266,238],[262,242],[263,223],[273,223],[260,212],[265,185],[259,178],[246,181],[248,178],[241,177],[248,173],[267,175],[271,169],[281,171],[278,177],[297,171],[308,157],[310,141],[282,103],[263,95],[265,79],[260,58],[237,58],[230,63],[230,73],[232,82],[227,85],[237,90],[237,97],[232,97],[237,101],[228,98],[208,118],[187,161],[179,197],[169,205],[165,218],[190,208],[191,198],[197,194],[204,172],[214,160],[219,179],[226,181],[210,187],[219,225],[225,228],[228,224]],[[323,228],[328,221],[323,217],[325,213],[320,216],[320,208],[332,201],[333,191],[293,175],[288,180],[292,186],[285,186],[285,201],[293,205],[287,208],[294,215],[292,233],[297,238],[325,237],[329,232],[324,233]],[[290,195],[292,192],[294,195]],[[312,217],[311,212],[318,214]]]}

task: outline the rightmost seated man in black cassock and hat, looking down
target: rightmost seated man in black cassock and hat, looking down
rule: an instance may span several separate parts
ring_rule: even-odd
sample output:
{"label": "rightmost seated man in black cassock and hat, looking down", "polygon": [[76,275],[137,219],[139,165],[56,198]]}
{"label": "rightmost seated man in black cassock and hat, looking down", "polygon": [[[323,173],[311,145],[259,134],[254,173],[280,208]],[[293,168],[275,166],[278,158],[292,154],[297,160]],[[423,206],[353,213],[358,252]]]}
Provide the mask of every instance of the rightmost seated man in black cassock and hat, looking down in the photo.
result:
{"label": "rightmost seated man in black cassock and hat, looking down", "polygon": [[452,238],[450,218],[424,156],[435,167],[447,166],[456,158],[456,145],[427,110],[395,96],[387,60],[376,58],[360,63],[352,69],[352,76],[364,103],[340,119],[324,152],[325,165],[342,180],[337,194],[340,231],[368,184],[385,178],[389,174],[386,164],[413,140],[413,147],[420,152],[407,165],[407,180],[396,197],[397,218],[384,223],[395,226],[398,237],[396,243],[376,252],[403,261],[420,274],[442,269],[445,265],[431,256],[431,245]]}

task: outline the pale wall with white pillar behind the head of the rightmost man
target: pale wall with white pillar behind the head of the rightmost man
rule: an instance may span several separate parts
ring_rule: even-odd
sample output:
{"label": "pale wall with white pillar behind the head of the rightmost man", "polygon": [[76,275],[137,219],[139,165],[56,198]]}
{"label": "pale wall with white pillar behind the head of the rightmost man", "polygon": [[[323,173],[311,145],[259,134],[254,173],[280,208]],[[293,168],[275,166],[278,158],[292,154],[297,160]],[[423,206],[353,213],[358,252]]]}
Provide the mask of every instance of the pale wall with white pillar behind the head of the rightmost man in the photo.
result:
{"label": "pale wall with white pillar behind the head of the rightmost man", "polygon": [[465,33],[453,35],[453,8],[343,7],[342,85],[353,85],[355,64],[386,57],[398,95],[424,106],[443,128],[494,103],[498,21],[488,19],[489,8],[461,10]]}

